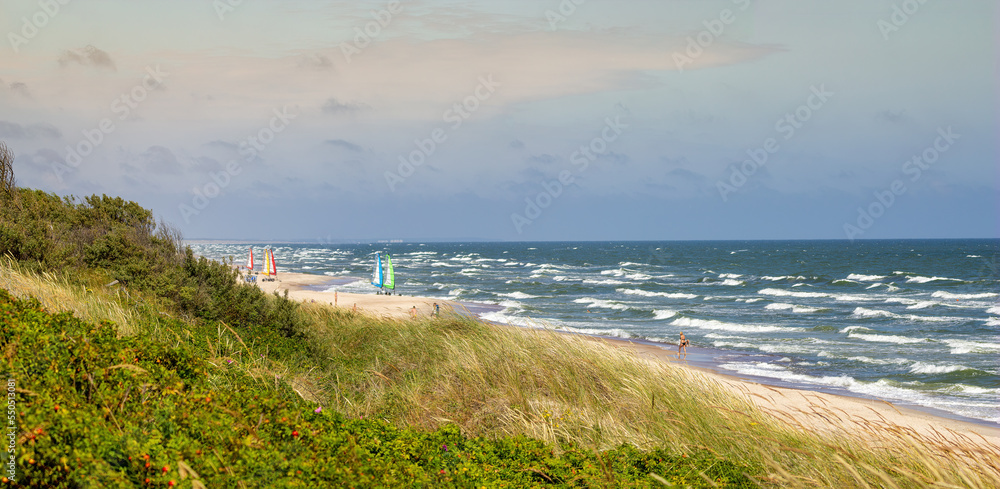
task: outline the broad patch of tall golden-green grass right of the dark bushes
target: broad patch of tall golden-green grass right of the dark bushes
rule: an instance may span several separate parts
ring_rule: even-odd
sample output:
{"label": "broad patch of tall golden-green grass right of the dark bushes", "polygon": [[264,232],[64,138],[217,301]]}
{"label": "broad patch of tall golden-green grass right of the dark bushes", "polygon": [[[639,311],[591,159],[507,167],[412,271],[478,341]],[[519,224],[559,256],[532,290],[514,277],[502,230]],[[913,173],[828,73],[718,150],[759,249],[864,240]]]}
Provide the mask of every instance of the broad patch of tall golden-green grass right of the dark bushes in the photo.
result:
{"label": "broad patch of tall golden-green grass right of the dark bushes", "polygon": [[986,440],[841,418],[813,404],[844,428],[817,431],[699,372],[586,337],[460,317],[304,313],[331,355],[328,401],[354,416],[597,450],[707,449],[766,467],[762,483],[789,487],[1000,487],[1000,447]]}

